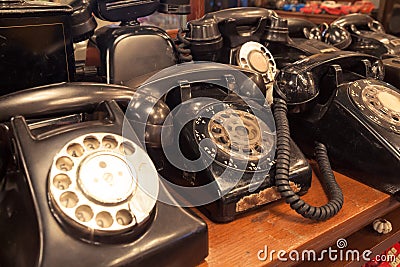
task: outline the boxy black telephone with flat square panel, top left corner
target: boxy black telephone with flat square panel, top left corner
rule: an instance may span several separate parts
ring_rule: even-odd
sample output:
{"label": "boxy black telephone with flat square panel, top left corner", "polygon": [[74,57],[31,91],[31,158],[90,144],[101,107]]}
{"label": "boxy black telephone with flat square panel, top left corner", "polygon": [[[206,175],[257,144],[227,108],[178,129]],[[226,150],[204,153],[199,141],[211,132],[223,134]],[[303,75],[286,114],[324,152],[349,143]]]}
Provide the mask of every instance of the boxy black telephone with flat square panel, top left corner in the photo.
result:
{"label": "boxy black telephone with flat square panel, top left corner", "polygon": [[75,79],[73,43],[96,27],[91,6],[44,1],[0,5],[0,95]]}

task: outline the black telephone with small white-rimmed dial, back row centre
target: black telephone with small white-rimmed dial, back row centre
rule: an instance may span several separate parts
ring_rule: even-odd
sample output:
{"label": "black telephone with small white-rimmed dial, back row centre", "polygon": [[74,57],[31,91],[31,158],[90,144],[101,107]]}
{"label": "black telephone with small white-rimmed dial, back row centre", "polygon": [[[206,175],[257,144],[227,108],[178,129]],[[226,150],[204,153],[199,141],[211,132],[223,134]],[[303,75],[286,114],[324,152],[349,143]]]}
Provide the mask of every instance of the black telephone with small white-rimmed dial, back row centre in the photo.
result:
{"label": "black telephone with small white-rimmed dial, back row centre", "polygon": [[216,61],[256,71],[271,87],[272,95],[276,64],[263,45],[265,27],[271,16],[276,13],[263,8],[231,8],[189,21],[185,39],[193,60]]}

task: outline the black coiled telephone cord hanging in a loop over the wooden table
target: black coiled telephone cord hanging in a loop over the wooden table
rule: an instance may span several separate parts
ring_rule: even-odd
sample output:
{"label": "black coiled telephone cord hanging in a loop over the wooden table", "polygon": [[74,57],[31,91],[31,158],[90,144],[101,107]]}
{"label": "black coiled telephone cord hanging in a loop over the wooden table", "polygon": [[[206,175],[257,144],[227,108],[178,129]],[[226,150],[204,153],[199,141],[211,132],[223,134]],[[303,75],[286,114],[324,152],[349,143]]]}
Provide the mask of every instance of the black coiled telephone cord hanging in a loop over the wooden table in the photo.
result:
{"label": "black coiled telephone cord hanging in a loop over the wooden table", "polygon": [[329,201],[323,206],[314,207],[296,195],[289,185],[290,131],[286,101],[275,98],[273,112],[277,128],[275,185],[278,192],[292,209],[305,218],[324,221],[335,216],[342,208],[344,200],[342,190],[332,172],[326,147],[321,143],[316,143],[315,156],[321,173],[320,180]]}

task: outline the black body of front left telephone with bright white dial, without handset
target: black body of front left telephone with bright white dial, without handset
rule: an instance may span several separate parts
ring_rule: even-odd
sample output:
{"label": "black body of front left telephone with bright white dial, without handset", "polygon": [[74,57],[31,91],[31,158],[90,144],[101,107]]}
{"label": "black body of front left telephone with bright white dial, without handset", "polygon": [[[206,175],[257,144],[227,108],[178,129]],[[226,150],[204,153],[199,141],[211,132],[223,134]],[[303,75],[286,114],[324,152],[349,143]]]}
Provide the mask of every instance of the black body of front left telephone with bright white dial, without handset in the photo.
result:
{"label": "black body of front left telephone with bright white dial, without handset", "polygon": [[[18,163],[15,162],[18,166],[10,166],[5,188],[0,191],[0,242],[4,244],[0,250],[0,266],[195,266],[207,256],[207,225],[190,210],[162,203],[155,196],[146,198],[147,194],[141,194],[139,186],[134,195],[126,197],[128,208],[117,206],[123,205],[124,199],[110,203],[107,202],[110,198],[94,199],[94,191],[87,191],[89,193],[86,194],[79,191],[81,188],[100,188],[101,195],[97,196],[104,196],[107,192],[104,188],[111,190],[122,183],[125,178],[119,178],[118,183],[108,180],[110,182],[106,185],[111,186],[104,187],[101,186],[104,183],[100,184],[98,181],[101,180],[95,177],[93,181],[97,187],[90,187],[90,184],[84,187],[88,185],[84,182],[90,178],[90,174],[84,172],[87,168],[97,177],[105,178],[112,178],[112,170],[118,168],[119,177],[124,177],[125,165],[121,163],[120,154],[115,152],[117,149],[136,153],[143,160],[140,169],[134,166],[137,171],[134,177],[150,180],[153,175],[152,171],[148,171],[147,176],[141,172],[151,163],[149,158],[138,154],[144,151],[140,152],[133,142],[128,143],[128,139],[119,144],[122,140],[117,138],[122,128],[122,110],[111,101],[103,102],[96,111],[102,110],[107,111],[102,114],[105,119],[93,117],[96,120],[71,124],[66,124],[62,118],[53,121],[55,125],[63,123],[64,128],[57,128],[57,134],[54,134],[55,129],[48,130],[46,126],[34,131],[33,126],[30,125],[30,128],[21,116],[13,117],[10,126],[0,128],[7,130],[0,136],[0,143],[5,139],[13,144],[10,162],[13,157],[18,159]],[[109,118],[114,118],[114,121],[111,123]],[[66,140],[74,142],[67,149]],[[77,149],[78,146],[81,150]],[[63,151],[70,152],[62,154]],[[87,153],[87,156],[82,153]],[[57,157],[58,160],[52,164]],[[79,161],[79,157],[84,159]],[[102,161],[92,164],[96,158]],[[107,169],[109,162],[114,163],[114,168]],[[72,171],[74,164],[79,165],[79,174]],[[57,168],[55,177],[64,178],[64,181],[53,177],[53,182],[47,186],[54,170],[51,166]],[[154,168],[151,166],[148,170]],[[107,176],[101,175],[102,169],[107,170]],[[153,178],[159,184],[155,169],[154,174]],[[76,178],[78,175],[79,178]],[[125,181],[129,184],[129,180]],[[54,191],[56,188],[63,190],[60,197]],[[162,185],[157,192],[168,198],[169,203],[174,203]],[[136,195],[140,199],[135,198]],[[85,199],[85,196],[91,198]],[[63,206],[57,206],[58,199],[63,201]],[[154,205],[149,205],[153,203],[151,201]],[[133,214],[131,216],[136,223],[121,230],[116,228],[118,225],[129,226],[133,221],[129,221],[132,217],[128,217],[128,212]],[[93,223],[84,225],[85,222]],[[99,228],[95,228],[96,225]]]}

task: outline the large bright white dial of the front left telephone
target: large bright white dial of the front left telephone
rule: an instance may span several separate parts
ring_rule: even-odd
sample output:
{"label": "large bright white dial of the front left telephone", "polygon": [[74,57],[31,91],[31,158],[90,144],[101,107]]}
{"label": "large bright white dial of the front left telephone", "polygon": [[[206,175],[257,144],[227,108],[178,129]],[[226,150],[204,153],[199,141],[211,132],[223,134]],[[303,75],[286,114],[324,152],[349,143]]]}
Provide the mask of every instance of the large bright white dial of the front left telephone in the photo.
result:
{"label": "large bright white dial of the front left telephone", "polygon": [[156,204],[158,175],[133,142],[94,133],[70,141],[54,157],[48,188],[56,218],[109,235],[148,221]]}

